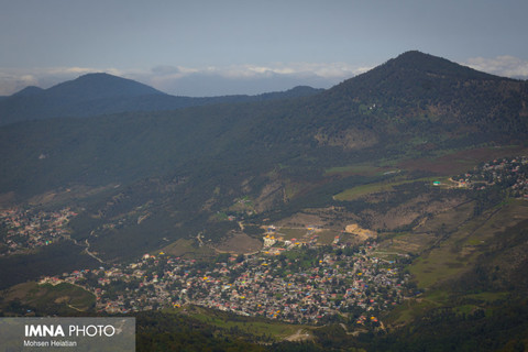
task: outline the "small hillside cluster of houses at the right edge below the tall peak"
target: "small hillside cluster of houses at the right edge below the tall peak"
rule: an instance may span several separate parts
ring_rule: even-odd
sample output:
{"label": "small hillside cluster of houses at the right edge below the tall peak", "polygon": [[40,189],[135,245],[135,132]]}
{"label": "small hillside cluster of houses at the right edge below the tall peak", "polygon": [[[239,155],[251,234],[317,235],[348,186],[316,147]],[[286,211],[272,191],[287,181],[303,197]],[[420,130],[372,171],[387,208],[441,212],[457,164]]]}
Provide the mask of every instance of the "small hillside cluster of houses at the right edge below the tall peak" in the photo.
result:
{"label": "small hillside cluster of houses at the right edge below the tall peak", "polygon": [[453,177],[459,187],[486,189],[498,186],[512,197],[528,199],[528,157],[499,158]]}

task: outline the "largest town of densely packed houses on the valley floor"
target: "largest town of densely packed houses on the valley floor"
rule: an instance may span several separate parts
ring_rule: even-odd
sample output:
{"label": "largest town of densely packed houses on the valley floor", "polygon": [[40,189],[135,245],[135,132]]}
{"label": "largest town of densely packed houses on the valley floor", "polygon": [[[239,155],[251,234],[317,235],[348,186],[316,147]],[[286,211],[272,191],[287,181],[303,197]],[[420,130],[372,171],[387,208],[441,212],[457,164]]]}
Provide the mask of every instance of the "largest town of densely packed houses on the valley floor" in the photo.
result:
{"label": "largest town of densely packed houses on the valley floor", "polygon": [[96,295],[98,310],[109,314],[194,304],[288,322],[323,323],[341,316],[364,324],[377,322],[381,311],[410,293],[403,263],[372,255],[375,246],[295,248],[280,255],[263,250],[209,264],[145,254],[128,265],[43,283],[79,285]]}

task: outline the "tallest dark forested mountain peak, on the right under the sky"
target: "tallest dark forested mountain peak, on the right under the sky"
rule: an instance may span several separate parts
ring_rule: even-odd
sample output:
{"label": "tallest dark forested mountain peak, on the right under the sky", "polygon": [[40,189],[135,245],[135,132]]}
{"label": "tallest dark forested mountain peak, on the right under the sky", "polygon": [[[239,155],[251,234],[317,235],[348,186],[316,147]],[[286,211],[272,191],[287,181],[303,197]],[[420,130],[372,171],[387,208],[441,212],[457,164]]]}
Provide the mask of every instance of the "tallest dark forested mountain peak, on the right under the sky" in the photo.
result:
{"label": "tallest dark forested mountain peak, on the right under the sky", "polygon": [[413,51],[330,88],[315,99],[314,110],[332,107],[334,119],[353,117],[377,129],[431,130],[441,122],[457,133],[495,131],[497,138],[526,131],[527,91],[526,81]]}

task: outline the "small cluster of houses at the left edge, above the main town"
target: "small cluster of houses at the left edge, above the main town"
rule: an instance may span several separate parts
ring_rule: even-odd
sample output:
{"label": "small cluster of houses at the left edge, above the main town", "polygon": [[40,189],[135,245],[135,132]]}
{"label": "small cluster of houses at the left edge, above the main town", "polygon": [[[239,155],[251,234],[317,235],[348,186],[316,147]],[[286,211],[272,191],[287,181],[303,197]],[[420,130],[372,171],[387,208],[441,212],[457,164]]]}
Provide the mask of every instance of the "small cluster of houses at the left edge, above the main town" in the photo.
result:
{"label": "small cluster of houses at the left edge, above the main town", "polygon": [[67,224],[77,216],[70,208],[57,211],[7,209],[0,211],[4,235],[0,238],[0,255],[15,254],[48,245],[68,235]]}

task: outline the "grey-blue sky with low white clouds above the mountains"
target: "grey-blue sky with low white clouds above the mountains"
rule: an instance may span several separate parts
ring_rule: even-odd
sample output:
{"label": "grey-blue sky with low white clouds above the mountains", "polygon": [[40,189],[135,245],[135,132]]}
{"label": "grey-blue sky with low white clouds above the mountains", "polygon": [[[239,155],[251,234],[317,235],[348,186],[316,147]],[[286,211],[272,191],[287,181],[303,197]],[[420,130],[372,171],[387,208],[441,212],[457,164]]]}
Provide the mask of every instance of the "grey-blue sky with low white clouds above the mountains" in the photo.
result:
{"label": "grey-blue sky with low white clouds above the mountains", "polygon": [[528,78],[526,0],[0,0],[0,96],[106,72],[178,96],[329,88],[418,50]]}

